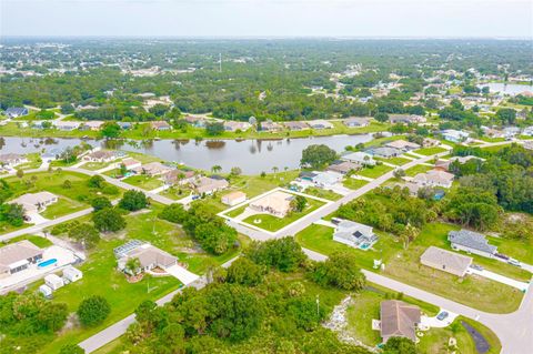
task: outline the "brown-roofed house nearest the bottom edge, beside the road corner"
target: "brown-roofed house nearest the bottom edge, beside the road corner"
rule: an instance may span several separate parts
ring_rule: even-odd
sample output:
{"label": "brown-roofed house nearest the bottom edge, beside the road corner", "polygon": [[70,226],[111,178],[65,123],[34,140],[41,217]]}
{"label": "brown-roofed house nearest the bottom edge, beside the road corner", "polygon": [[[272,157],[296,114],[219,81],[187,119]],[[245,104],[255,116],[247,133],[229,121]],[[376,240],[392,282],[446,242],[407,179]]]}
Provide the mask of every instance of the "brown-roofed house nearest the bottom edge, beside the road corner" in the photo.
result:
{"label": "brown-roofed house nearest the bottom edge, beside the road corner", "polygon": [[419,306],[399,300],[388,300],[381,302],[380,315],[383,343],[393,336],[416,341],[416,326],[420,323]]}

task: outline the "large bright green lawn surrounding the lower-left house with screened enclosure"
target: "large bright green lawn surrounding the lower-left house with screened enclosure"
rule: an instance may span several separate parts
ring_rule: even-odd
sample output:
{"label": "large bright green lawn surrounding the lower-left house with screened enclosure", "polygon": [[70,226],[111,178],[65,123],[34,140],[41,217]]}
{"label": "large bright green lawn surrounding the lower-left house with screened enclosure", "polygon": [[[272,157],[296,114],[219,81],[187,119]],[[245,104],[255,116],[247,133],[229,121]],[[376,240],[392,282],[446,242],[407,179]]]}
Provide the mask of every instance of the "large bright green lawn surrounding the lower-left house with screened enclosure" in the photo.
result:
{"label": "large bright green lawn surrounding the lower-left house with screened enclosure", "polygon": [[[117,260],[113,255],[113,249],[128,240],[148,241],[154,246],[177,255],[180,263],[187,264],[188,269],[197,274],[203,273],[208,264],[221,264],[240,252],[235,249],[220,256],[204,253],[183,233],[179,225],[157,219],[160,210],[161,206],[154,204],[152,210],[125,216],[127,229],[104,235],[98,246],[89,253],[88,260],[79,266],[83,272],[83,279],[54,292],[53,301],[67,303],[71,312],[74,312],[80,302],[88,296],[105,297],[111,305],[111,314],[104,323],[91,328],[67,330],[44,346],[41,353],[57,353],[67,343],[79,343],[128,316],[142,301],[160,299],[181,286],[181,283],[172,276],[145,276],[139,283],[128,283],[124,275],[115,270]],[[248,239],[241,237],[240,241],[245,244]],[[34,286],[38,285],[40,283],[34,284]]]}

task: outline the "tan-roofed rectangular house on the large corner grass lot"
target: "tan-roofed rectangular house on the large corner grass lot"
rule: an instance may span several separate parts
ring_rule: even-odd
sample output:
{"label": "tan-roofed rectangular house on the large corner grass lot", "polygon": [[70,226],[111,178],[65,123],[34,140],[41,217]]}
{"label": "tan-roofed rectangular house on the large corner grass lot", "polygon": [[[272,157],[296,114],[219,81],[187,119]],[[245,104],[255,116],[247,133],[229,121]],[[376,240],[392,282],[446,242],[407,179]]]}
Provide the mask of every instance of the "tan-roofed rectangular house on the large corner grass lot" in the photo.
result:
{"label": "tan-roofed rectangular house on the large corner grass lot", "polygon": [[472,257],[430,246],[420,256],[420,263],[453,275],[464,276],[472,264]]}

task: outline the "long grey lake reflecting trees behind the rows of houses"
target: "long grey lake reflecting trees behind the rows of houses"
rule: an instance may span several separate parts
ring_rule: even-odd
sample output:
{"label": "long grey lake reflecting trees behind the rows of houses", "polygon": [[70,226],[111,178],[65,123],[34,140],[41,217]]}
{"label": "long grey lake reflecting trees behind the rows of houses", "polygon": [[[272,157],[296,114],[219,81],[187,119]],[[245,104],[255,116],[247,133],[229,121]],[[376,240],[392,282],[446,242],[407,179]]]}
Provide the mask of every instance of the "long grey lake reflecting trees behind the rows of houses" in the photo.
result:
{"label": "long grey lake reflecting trees behind the rows of houses", "polygon": [[[30,139],[2,138],[0,153],[30,153],[53,151],[81,143],[80,139]],[[325,144],[338,152],[346,145],[356,145],[372,140],[372,134],[333,135],[282,140],[157,140],[157,141],[113,141],[109,146],[125,151],[141,152],[165,161],[183,163],[188,166],[211,170],[220,165],[224,172],[241,168],[244,174],[272,172],[272,168],[296,169],[302,150],[312,144]],[[105,141],[84,140],[93,146],[104,146]]]}

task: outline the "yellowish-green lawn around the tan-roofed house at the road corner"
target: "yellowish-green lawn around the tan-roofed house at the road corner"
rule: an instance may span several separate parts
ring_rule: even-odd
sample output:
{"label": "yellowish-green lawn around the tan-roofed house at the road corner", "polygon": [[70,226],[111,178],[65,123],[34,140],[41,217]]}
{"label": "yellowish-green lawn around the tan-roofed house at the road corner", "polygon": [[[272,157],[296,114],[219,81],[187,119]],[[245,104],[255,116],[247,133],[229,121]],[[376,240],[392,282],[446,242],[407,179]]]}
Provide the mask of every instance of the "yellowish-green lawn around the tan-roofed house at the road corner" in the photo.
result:
{"label": "yellowish-green lawn around the tan-roofed house at the road corner", "polygon": [[[515,311],[523,295],[517,289],[475,275],[462,280],[420,263],[420,256],[429,245],[445,245],[444,240],[451,227],[453,226],[445,224],[426,225],[408,250],[401,250],[391,257],[384,275],[482,311],[492,313]],[[481,260],[476,259],[475,262],[477,261]],[[496,272],[507,275],[503,271],[506,264],[495,265]]]}

